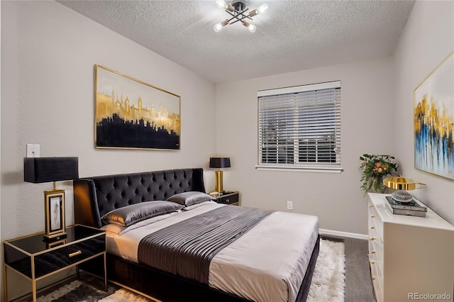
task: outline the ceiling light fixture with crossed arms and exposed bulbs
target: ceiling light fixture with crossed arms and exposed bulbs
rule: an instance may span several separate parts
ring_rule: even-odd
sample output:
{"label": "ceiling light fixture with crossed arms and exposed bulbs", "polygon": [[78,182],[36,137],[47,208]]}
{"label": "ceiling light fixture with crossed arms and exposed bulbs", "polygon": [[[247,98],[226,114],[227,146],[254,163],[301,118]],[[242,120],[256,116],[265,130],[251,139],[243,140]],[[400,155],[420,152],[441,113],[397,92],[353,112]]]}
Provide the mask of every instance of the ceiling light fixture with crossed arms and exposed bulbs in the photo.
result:
{"label": "ceiling light fixture with crossed arms and exposed bulbs", "polygon": [[250,24],[244,19],[248,18],[249,20],[252,20],[253,16],[257,16],[259,13],[265,13],[265,11],[268,9],[268,4],[262,4],[258,9],[254,9],[253,11],[250,11],[246,14],[245,12],[249,9],[248,7],[246,7],[245,0],[233,0],[231,4],[227,4],[226,1],[223,0],[217,0],[216,4],[218,4],[221,9],[224,9],[226,13],[232,16],[231,18],[226,19],[221,23],[217,23],[214,26],[214,31],[216,31],[216,33],[221,31],[221,29],[227,24],[233,24],[238,21],[241,21],[241,23],[243,23],[243,26],[247,27],[251,33],[255,33],[257,26]]}

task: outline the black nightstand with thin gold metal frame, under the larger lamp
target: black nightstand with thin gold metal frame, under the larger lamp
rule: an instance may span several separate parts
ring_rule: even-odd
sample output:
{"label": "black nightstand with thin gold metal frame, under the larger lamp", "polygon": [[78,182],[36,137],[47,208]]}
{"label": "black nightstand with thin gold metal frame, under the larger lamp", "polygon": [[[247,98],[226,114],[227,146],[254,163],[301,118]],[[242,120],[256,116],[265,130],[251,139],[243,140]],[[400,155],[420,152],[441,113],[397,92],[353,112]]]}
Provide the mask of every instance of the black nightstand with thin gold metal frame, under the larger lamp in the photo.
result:
{"label": "black nightstand with thin gold metal frame, under the larger lamp", "polygon": [[66,228],[67,237],[45,242],[44,233],[4,241],[4,300],[8,300],[8,270],[12,269],[31,281],[33,302],[36,301],[36,282],[96,257],[104,257],[104,290],[106,278],[106,233],[84,225]]}

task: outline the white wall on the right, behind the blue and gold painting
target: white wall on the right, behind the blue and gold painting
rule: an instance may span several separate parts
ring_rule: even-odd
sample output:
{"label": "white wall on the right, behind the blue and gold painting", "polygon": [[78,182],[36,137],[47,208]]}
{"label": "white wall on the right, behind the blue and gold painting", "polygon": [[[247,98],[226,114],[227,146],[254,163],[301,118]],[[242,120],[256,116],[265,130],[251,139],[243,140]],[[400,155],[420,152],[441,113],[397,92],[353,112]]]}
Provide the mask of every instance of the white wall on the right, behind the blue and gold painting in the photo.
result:
{"label": "white wall on the right, behind the blue and gold painting", "polygon": [[[454,181],[414,168],[414,89],[454,50],[454,1],[416,1],[394,55],[394,150],[403,175],[427,185],[411,193],[454,224]],[[451,108],[454,110],[454,108]]]}

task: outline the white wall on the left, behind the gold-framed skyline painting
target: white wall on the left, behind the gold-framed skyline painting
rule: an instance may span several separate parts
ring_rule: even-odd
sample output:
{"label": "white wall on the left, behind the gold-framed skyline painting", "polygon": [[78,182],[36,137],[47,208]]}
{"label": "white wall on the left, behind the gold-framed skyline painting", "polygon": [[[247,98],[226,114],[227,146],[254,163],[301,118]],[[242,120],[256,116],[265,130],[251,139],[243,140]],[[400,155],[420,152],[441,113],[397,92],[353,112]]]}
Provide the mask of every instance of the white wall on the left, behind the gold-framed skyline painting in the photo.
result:
{"label": "white wall on the left, behind the gold-framed skyline painting", "polygon": [[[41,157],[79,157],[80,177],[208,167],[216,153],[207,139],[216,136],[214,84],[57,2],[1,1],[1,13],[3,240],[44,230],[43,190],[52,184],[23,181],[27,143],[40,144]],[[95,64],[181,96],[181,150],[96,149]],[[57,187],[67,190],[70,225],[72,181]]]}

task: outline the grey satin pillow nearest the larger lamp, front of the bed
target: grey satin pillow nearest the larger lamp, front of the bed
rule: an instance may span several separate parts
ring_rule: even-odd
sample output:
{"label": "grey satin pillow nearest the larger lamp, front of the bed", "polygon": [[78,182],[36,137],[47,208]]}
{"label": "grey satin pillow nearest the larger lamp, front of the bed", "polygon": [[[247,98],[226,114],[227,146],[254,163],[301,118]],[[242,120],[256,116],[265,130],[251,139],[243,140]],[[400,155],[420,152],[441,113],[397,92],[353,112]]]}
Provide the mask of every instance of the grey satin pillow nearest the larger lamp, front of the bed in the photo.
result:
{"label": "grey satin pillow nearest the larger lamp, front of the bed", "polygon": [[170,201],[145,201],[116,208],[101,217],[104,223],[128,226],[154,216],[181,210],[182,205]]}

